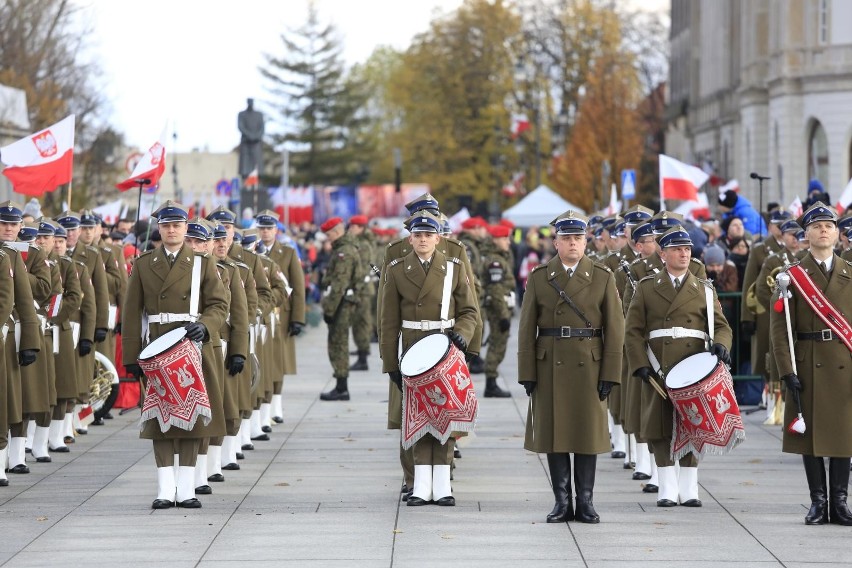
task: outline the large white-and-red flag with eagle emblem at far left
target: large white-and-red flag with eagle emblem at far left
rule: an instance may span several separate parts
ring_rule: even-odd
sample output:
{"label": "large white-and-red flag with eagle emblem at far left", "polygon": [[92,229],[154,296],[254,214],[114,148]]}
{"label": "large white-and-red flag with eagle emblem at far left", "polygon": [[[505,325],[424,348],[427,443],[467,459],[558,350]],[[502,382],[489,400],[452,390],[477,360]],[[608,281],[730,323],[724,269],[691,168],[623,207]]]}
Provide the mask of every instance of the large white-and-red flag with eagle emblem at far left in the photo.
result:
{"label": "large white-and-red flag with eagle emblem at far left", "polygon": [[74,115],[0,148],[3,170],[17,193],[39,197],[71,183],[74,167]]}

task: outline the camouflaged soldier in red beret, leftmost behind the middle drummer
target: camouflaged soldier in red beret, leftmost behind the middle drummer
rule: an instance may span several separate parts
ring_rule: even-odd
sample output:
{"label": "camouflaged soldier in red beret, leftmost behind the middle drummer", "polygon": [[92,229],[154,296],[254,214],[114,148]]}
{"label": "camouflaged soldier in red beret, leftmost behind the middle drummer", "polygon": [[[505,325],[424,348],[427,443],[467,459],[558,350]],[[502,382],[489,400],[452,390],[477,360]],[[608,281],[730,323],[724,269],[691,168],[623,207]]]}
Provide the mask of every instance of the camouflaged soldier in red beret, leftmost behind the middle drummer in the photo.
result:
{"label": "camouflaged soldier in red beret, leftmost behind the middle drummer", "polygon": [[328,325],[328,358],[337,385],[322,393],[320,400],[349,400],[349,328],[358,303],[356,290],[366,274],[343,219],[332,217],[321,229],[331,242],[331,259],[323,276],[322,318]]}

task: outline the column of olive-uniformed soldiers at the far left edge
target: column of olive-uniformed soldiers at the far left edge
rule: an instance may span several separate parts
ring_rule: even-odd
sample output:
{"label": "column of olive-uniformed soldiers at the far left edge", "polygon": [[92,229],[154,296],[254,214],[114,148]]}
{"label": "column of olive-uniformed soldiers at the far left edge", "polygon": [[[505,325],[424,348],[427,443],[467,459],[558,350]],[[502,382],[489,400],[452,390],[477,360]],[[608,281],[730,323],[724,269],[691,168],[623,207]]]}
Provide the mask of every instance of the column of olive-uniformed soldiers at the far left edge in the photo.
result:
{"label": "column of olive-uniformed soldiers at the far left edge", "polygon": [[113,358],[127,285],[100,234],[91,211],[24,223],[19,204],[0,204],[0,486],[30,472],[27,452],[50,462],[86,432],[95,349]]}

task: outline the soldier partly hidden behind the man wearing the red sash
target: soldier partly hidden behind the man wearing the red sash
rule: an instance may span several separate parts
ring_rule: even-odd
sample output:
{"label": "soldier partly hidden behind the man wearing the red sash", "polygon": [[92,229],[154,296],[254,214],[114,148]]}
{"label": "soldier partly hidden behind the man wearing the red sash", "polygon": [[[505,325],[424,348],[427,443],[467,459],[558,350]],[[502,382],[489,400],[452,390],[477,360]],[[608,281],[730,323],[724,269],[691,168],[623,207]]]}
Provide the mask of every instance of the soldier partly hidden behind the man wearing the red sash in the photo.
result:
{"label": "soldier partly hidden behind the man wearing the red sash", "polygon": [[[796,253],[799,252],[799,224],[790,219],[784,221],[781,226],[781,242],[784,245],[778,252],[770,253],[763,262],[763,268],[754,281],[754,296],[758,305],[764,312],[769,313],[772,309],[772,293],[775,291],[775,277],[779,272],[798,261]],[[771,283],[770,283],[771,282]],[[778,377],[778,366],[772,353],[772,337],[768,340],[769,357],[767,357],[768,392],[766,398],[766,420],[765,425],[781,424],[784,415],[784,402],[781,399],[781,383]]]}

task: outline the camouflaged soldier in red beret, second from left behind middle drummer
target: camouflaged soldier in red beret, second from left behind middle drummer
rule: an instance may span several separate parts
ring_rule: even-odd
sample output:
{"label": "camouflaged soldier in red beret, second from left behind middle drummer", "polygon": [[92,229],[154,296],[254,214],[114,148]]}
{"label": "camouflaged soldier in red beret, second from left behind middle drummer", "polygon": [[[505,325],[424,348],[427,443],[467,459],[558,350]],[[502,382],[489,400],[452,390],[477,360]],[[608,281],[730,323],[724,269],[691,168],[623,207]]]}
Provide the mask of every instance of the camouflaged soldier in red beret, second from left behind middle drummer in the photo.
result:
{"label": "camouflaged soldier in red beret, second from left behind middle drummer", "polygon": [[361,271],[364,279],[358,287],[358,305],[352,313],[352,339],[358,352],[358,360],[349,367],[350,371],[366,371],[367,356],[370,354],[370,338],[373,332],[373,300],[376,288],[373,284],[372,269],[376,250],[376,238],[367,230],[367,216],[353,215],[349,219],[347,232],[352,235],[352,241],[358,248],[361,257]]}

